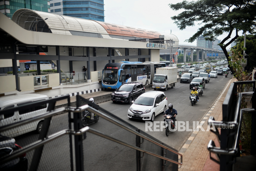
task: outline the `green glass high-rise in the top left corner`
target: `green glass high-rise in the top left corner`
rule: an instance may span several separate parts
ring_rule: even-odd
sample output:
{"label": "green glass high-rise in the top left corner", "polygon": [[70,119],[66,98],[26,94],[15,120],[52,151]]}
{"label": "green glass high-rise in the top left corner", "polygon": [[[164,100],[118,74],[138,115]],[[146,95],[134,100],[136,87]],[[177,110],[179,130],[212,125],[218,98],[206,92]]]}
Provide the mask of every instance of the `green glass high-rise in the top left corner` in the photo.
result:
{"label": "green glass high-rise in the top left corner", "polygon": [[10,19],[21,8],[50,12],[50,0],[0,0],[0,12]]}

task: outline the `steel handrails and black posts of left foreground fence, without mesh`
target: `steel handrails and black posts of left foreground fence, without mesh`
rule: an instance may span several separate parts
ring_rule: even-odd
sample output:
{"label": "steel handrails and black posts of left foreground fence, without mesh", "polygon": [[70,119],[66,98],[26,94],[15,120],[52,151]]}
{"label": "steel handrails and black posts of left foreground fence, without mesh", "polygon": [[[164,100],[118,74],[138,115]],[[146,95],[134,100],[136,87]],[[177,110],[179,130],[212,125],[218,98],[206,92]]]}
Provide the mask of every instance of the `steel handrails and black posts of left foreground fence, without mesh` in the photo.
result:
{"label": "steel handrails and black posts of left foreground fence, without mesh", "polygon": [[[89,105],[82,105],[81,107],[61,107],[61,108],[53,110],[56,101],[64,100],[64,99],[68,99],[68,104],[70,104],[70,97],[69,96],[62,96],[62,97],[57,97],[57,98],[53,98],[53,99],[46,100],[46,101],[32,102],[30,104],[20,105],[20,106],[11,108],[11,109],[0,111],[0,115],[2,115],[2,114],[5,114],[5,113],[11,113],[11,112],[18,111],[18,110],[21,110],[21,109],[23,109],[23,110],[28,109],[31,106],[40,106],[42,104],[49,104],[47,112],[42,114],[42,115],[39,115],[39,116],[36,116],[36,117],[33,117],[33,118],[28,118],[28,119],[23,120],[23,121],[19,121],[19,122],[13,123],[13,124],[9,124],[9,125],[5,125],[5,126],[0,127],[0,132],[2,132],[2,131],[5,131],[5,130],[10,130],[14,127],[18,127],[18,126],[21,126],[21,125],[24,125],[24,124],[32,123],[33,121],[38,121],[38,120],[41,120],[41,119],[45,119],[43,130],[39,135],[39,140],[26,145],[23,149],[14,150],[11,154],[8,154],[4,157],[1,157],[0,158],[0,164],[3,164],[7,161],[10,161],[10,160],[12,160],[16,157],[19,157],[23,153],[27,153],[27,152],[30,152],[31,150],[35,149],[34,155],[33,155],[33,161],[31,162],[31,167],[30,167],[29,170],[36,170],[39,166],[39,161],[40,161],[40,158],[41,158],[43,145],[68,134],[70,136],[71,170],[73,170],[73,167],[74,167],[73,157],[72,157],[72,154],[73,154],[72,149],[73,148],[75,148],[76,170],[83,170],[82,164],[83,164],[84,161],[83,161],[83,157],[81,157],[81,155],[83,156],[83,153],[82,153],[81,150],[78,151],[76,148],[79,148],[79,141],[82,140],[82,139],[79,140],[79,136],[85,135],[85,133],[88,132],[88,133],[92,133],[94,135],[103,137],[105,139],[108,139],[110,141],[116,142],[118,144],[124,145],[124,146],[126,146],[130,149],[134,149],[138,152],[142,152],[143,156],[144,156],[144,153],[145,153],[145,154],[157,157],[159,159],[162,159],[163,161],[166,161],[166,162],[168,161],[168,162],[171,162],[171,163],[176,164],[176,165],[182,165],[183,156],[180,153],[178,153],[176,150],[171,149],[167,145],[163,145],[163,143],[159,143],[158,141],[150,138],[150,136],[147,136],[146,133],[142,134],[142,133],[136,131],[138,129],[136,129],[136,130],[132,129],[131,127],[134,127],[134,126],[132,126],[132,125],[131,125],[131,127],[127,126],[127,125],[129,125],[129,123],[127,123],[126,121],[123,121],[122,119],[114,116],[113,114],[111,114],[111,117],[110,117],[107,114],[102,113],[101,111],[98,111],[97,109],[94,109],[94,108],[90,107]],[[77,100],[78,100],[77,104],[78,105],[80,104],[81,99],[82,99],[82,97],[80,97],[80,96],[77,97]],[[88,103],[90,103],[90,102],[88,102]],[[90,105],[93,106],[92,103]],[[104,110],[104,109],[101,109],[101,108],[99,108],[99,109]],[[76,129],[77,128],[76,124],[78,124],[78,125],[80,124],[80,127],[81,127],[81,118],[79,116],[85,110],[88,110],[88,111],[90,111],[94,114],[97,114],[99,117],[105,119],[106,121],[109,121],[110,123],[112,123],[114,125],[117,125],[118,127],[122,128],[122,129],[124,129],[124,130],[126,130],[126,131],[140,137],[140,138],[143,138],[145,141],[149,141],[152,144],[155,144],[155,145],[159,146],[160,148],[166,150],[166,153],[162,153],[162,155],[156,154],[156,153],[152,152],[152,149],[146,150],[146,149],[140,148],[140,146],[138,144],[137,145],[132,145],[130,143],[127,143],[125,141],[120,140],[119,138],[113,137],[112,134],[107,135],[106,133],[102,133],[102,132],[100,132],[96,129],[93,129],[93,128],[89,127],[89,126],[86,126],[84,128],[80,128],[80,129]],[[56,114],[64,113],[64,112],[68,112],[69,129],[63,129],[61,131],[58,131],[56,133],[53,133],[53,134],[47,136],[47,131],[48,131],[50,121],[51,121],[52,117],[55,116]],[[71,113],[73,113],[72,114],[73,118],[71,117],[72,116]],[[72,129],[71,123],[74,124],[74,129]],[[74,136],[74,140],[72,140],[72,136]],[[87,137],[87,136],[84,136],[84,137]],[[88,139],[88,137],[86,139]],[[72,143],[74,143],[75,147],[72,145]],[[41,148],[41,151],[40,151],[40,148]],[[81,146],[80,146],[80,149],[82,149]],[[180,156],[180,159],[178,159],[178,158],[177,159],[168,158],[167,157],[168,155],[166,156],[167,151],[171,152],[175,155]],[[138,156],[136,155],[136,158],[138,158],[138,159],[141,159],[142,157],[138,158]],[[178,162],[179,160],[180,160],[180,162]],[[109,164],[109,165],[111,165],[111,164]],[[138,170],[140,170],[140,169],[138,168]]]}

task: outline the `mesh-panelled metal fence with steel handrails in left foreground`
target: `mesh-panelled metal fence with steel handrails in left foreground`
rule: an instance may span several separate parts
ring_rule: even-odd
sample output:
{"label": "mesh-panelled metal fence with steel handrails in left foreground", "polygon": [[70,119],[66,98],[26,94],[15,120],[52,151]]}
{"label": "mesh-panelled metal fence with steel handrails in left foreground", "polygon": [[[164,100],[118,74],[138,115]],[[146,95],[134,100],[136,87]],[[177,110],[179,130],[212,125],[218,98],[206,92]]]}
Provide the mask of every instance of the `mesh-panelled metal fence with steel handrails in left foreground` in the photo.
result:
{"label": "mesh-panelled metal fence with steel handrails in left foreground", "polygon": [[[31,107],[35,109],[48,105],[47,112],[40,111],[36,117],[23,116],[24,120],[15,123],[2,117],[0,133],[10,134],[16,127],[31,127],[35,121],[43,121],[43,127],[39,135],[29,132],[15,136],[15,143],[23,149],[15,149],[12,153],[1,157],[0,165],[24,153],[30,171],[178,170],[178,165],[182,165],[182,155],[177,150],[98,105],[77,95],[76,107],[54,109],[56,101],[59,100],[67,100],[70,106],[70,97],[61,96],[0,111],[0,116],[10,116],[8,113],[31,111]],[[81,119],[85,110],[97,114],[99,120],[83,128]],[[0,143],[0,148],[7,148],[6,145],[3,147],[1,145]]]}

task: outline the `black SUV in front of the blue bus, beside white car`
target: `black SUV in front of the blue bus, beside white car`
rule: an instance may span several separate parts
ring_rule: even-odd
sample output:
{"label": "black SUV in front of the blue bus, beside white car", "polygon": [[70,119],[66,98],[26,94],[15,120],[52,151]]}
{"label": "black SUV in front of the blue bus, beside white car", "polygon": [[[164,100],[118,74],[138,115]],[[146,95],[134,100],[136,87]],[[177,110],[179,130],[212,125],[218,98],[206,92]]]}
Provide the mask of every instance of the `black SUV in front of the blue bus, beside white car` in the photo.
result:
{"label": "black SUV in front of the blue bus, beside white car", "polygon": [[111,100],[131,104],[142,93],[145,93],[145,88],[141,82],[125,82],[112,93]]}

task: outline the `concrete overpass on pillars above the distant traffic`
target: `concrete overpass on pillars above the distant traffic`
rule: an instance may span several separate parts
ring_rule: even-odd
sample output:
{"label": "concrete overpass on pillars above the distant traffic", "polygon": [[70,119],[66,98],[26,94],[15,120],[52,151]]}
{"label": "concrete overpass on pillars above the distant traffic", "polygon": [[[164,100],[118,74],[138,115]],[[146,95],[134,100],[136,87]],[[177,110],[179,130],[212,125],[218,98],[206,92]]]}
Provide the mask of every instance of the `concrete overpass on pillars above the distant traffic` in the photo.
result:
{"label": "concrete overpass on pillars above the distant traffic", "polygon": [[[173,53],[175,53],[176,50],[178,49],[183,49],[184,50],[184,63],[186,62],[186,50],[196,50],[196,60],[199,60],[199,51],[202,50],[202,62],[204,62],[204,59],[207,57],[207,51],[211,52],[211,53],[218,53],[218,52],[223,52],[222,50],[217,50],[217,49],[211,49],[211,48],[204,48],[204,47],[198,47],[196,45],[186,45],[186,44],[179,44],[177,49],[173,48]],[[170,50],[164,49],[164,50],[160,50],[160,54],[161,53],[170,53]],[[177,59],[178,55],[174,55],[174,63],[177,63],[178,59]],[[191,53],[191,60],[193,62],[193,53]]]}

